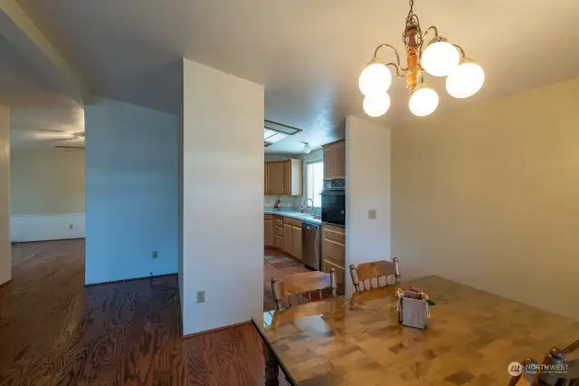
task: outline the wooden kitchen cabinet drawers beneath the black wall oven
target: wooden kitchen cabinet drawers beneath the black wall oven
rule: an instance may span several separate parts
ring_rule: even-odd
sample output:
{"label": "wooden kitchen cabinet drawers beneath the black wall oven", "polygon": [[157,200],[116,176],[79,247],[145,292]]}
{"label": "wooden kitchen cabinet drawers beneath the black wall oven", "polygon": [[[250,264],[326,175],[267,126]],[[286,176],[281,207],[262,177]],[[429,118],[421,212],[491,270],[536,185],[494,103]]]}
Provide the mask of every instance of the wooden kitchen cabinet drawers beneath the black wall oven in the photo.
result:
{"label": "wooden kitchen cabinet drawers beneath the black wall oven", "polygon": [[346,228],[324,224],[322,227],[322,271],[336,269],[337,293],[346,288]]}

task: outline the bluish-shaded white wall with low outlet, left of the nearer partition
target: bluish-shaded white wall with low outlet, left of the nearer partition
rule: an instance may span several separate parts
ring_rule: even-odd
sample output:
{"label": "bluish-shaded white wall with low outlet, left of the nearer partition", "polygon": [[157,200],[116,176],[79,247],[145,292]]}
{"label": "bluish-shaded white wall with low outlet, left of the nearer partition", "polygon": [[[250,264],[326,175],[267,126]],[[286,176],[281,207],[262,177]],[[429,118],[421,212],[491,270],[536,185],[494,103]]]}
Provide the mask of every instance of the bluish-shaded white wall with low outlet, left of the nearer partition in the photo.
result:
{"label": "bluish-shaded white wall with low outlet, left of the nearer partition", "polygon": [[177,272],[178,125],[119,101],[85,106],[87,284]]}

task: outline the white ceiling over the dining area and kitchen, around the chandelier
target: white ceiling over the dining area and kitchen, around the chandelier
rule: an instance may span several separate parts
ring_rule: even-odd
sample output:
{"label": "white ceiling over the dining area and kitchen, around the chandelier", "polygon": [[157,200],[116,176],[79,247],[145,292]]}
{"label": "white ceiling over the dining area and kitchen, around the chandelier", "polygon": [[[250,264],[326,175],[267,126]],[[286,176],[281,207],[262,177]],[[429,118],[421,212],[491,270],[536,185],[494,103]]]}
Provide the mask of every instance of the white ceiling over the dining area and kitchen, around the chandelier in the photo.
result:
{"label": "white ceiling over the dining area and kitchen, around the chandelier", "polygon": [[[304,131],[268,148],[299,152],[334,140],[348,113],[364,116],[357,77],[378,43],[402,50],[403,0],[19,0],[71,61],[90,92],[163,111],[181,103],[179,58],[265,85],[266,118]],[[460,101],[443,80],[439,110],[579,75],[577,0],[415,0],[423,26],[436,24],[485,69],[482,90]],[[387,53],[384,53],[387,54]],[[393,59],[385,57],[385,59]],[[414,118],[402,81],[378,121]],[[420,118],[431,119],[429,117]]]}

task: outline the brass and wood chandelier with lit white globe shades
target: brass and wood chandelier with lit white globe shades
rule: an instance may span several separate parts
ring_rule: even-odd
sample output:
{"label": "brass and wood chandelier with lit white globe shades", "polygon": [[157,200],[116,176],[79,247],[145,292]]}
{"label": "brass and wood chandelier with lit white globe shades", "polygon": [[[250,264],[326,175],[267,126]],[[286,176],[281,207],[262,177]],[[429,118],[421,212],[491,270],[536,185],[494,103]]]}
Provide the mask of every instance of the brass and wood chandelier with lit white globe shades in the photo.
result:
{"label": "brass and wood chandelier with lit white globe shades", "polygon": [[[402,35],[406,47],[406,67],[402,67],[396,49],[383,43],[375,48],[374,57],[360,74],[358,85],[365,95],[364,111],[371,117],[384,115],[390,107],[388,89],[392,83],[392,74],[387,66],[394,68],[396,76],[405,78],[406,88],[410,91],[408,107],[418,116],[429,115],[438,107],[438,94],[424,82],[424,72],[432,76],[447,76],[446,90],[454,98],[470,97],[480,90],[485,81],[485,72],[479,64],[472,62],[459,45],[449,43],[439,35],[434,25],[422,34],[418,16],[413,13],[413,5],[414,1],[410,0],[410,11]],[[424,43],[424,38],[431,31],[434,36],[428,43]],[[394,51],[396,63],[384,63],[378,58],[378,52],[384,47]]]}

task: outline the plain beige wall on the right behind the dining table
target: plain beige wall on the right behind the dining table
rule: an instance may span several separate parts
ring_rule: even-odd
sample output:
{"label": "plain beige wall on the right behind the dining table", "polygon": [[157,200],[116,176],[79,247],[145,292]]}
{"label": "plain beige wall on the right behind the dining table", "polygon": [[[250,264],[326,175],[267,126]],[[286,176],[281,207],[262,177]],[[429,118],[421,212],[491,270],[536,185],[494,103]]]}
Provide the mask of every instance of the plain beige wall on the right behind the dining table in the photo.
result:
{"label": "plain beige wall on the right behind the dining table", "polygon": [[578,96],[579,78],[393,130],[403,269],[579,318]]}

